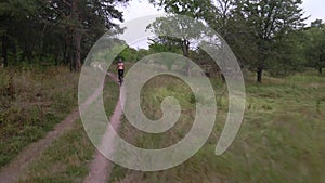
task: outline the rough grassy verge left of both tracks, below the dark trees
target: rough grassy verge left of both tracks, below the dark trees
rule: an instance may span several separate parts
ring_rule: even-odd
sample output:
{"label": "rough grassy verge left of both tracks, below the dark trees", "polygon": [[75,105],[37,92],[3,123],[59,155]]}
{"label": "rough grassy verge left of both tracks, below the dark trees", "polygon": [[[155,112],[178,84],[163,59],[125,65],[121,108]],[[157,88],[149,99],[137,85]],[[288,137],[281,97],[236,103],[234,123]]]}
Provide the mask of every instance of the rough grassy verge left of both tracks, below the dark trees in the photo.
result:
{"label": "rough grassy verge left of both tracks, below the dark trees", "polygon": [[78,74],[62,67],[0,70],[0,167],[77,106],[77,86]]}

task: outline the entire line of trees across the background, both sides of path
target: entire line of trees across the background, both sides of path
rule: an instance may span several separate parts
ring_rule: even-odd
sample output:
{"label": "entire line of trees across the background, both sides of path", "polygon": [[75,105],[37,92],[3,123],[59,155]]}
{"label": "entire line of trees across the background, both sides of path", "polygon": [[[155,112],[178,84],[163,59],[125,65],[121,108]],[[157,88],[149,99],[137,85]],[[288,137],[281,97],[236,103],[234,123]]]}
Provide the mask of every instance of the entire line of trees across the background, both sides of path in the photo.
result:
{"label": "entire line of trees across the background, both sides of path", "polygon": [[[0,0],[1,57],[15,63],[69,65],[79,70],[94,42],[108,29],[120,32],[116,6],[128,0]],[[311,25],[301,0],[150,0],[169,15],[205,22],[230,44],[243,68],[257,74],[286,76],[307,67],[325,68],[325,24]],[[161,19],[160,19],[161,21]],[[158,22],[152,25],[158,32]],[[152,39],[150,50],[126,49],[119,56],[139,61],[156,52],[176,52],[196,62],[210,57],[190,49],[191,38]]]}

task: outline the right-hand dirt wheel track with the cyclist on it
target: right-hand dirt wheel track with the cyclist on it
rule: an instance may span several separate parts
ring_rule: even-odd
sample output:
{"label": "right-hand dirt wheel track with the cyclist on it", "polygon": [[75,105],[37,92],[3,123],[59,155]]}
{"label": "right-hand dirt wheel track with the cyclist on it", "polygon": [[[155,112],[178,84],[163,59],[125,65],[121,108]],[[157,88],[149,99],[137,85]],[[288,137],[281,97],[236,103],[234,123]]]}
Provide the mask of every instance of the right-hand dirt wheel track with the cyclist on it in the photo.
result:
{"label": "right-hand dirt wheel track with the cyclist on it", "polygon": [[[113,74],[108,76],[117,81],[117,78]],[[123,93],[123,88],[120,88],[120,96]],[[120,118],[122,116],[122,99],[119,97],[118,103],[115,107],[114,114],[110,118],[110,125],[115,130],[118,130],[120,127]],[[107,128],[105,134],[103,135],[102,146],[105,148],[105,152],[114,152],[114,133],[110,132],[110,129]],[[104,149],[102,148],[102,149]],[[95,157],[90,165],[90,172],[84,179],[84,183],[107,183],[109,180],[109,174],[113,168],[113,164],[99,151],[96,151]]]}

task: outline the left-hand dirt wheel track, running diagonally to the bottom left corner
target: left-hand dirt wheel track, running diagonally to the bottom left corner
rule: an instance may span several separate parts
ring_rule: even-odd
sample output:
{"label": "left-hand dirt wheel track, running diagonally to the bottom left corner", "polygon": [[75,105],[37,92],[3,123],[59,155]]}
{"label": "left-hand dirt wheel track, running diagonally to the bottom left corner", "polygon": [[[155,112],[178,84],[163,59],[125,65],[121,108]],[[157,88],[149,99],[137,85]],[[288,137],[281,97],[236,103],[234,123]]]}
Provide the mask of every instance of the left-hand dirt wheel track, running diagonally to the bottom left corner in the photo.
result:
{"label": "left-hand dirt wheel track, running diagonally to the bottom left corner", "polygon": [[[96,91],[80,107],[87,107],[91,104],[100,95],[101,91],[102,88],[98,88]],[[44,139],[41,139],[24,148],[14,160],[0,170],[0,182],[13,183],[17,181],[17,179],[25,173],[26,167],[39,157],[40,154],[49,145],[51,145],[54,140],[58,139],[65,130],[72,128],[74,121],[76,121],[79,117],[79,110],[75,109],[73,114],[66,117],[65,120],[56,125],[54,130],[49,132]]]}

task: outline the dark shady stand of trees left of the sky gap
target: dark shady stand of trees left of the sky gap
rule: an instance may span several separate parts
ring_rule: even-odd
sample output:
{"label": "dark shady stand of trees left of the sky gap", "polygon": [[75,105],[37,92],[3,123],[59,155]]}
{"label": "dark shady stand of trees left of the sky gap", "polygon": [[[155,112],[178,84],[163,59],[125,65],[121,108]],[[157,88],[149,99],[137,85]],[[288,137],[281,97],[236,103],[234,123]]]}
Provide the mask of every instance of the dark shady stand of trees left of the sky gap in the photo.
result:
{"label": "dark shady stand of trees left of the sky gap", "polygon": [[78,71],[93,43],[108,29],[119,31],[116,9],[128,0],[0,0],[1,60],[65,64]]}

